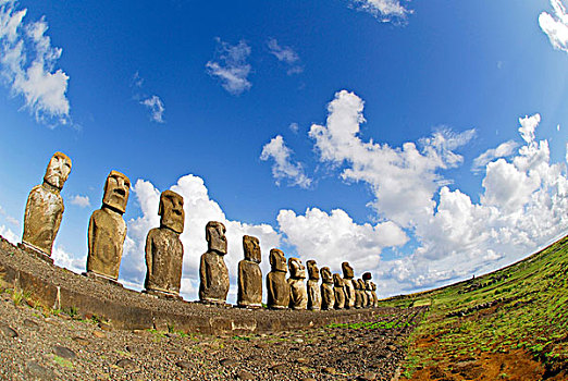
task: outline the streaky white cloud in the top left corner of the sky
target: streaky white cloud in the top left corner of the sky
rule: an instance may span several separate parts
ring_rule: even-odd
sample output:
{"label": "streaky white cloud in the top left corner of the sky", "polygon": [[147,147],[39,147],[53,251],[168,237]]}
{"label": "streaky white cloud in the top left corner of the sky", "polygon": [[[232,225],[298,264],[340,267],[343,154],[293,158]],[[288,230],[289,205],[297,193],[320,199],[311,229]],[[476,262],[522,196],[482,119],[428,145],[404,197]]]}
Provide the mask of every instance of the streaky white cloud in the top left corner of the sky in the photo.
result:
{"label": "streaky white cloud in the top left corner of the sky", "polygon": [[55,69],[62,49],[51,46],[45,19],[26,22],[27,10],[16,5],[15,1],[0,2],[0,74],[38,122],[66,124],[69,76]]}

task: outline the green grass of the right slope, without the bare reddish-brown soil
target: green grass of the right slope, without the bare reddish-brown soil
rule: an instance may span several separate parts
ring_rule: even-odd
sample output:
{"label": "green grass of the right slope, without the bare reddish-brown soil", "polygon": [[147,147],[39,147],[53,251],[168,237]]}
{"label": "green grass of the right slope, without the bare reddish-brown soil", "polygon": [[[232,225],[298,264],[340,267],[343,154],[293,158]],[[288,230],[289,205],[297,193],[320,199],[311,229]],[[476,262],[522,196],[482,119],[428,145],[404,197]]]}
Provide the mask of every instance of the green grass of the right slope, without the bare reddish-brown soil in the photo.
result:
{"label": "green grass of the right slope, without the bare reddish-brown soil", "polygon": [[[382,306],[430,303],[410,337],[405,376],[431,361],[523,348],[546,369],[568,366],[568,236],[513,266],[430,292],[382,300]],[[489,304],[489,305],[486,305]],[[435,351],[415,344],[434,337]],[[507,376],[503,374],[502,379]]]}

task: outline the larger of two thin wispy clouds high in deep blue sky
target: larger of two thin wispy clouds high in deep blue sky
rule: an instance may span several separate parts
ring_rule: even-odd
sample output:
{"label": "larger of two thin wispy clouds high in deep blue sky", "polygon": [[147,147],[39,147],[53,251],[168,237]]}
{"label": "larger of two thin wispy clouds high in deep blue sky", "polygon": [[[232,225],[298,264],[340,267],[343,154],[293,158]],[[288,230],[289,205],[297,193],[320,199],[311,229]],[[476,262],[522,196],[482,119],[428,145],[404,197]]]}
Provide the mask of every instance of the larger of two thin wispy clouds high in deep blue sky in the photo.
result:
{"label": "larger of two thin wispy clouds high in deep blue sky", "polygon": [[239,95],[250,89],[251,84],[248,81],[250,64],[247,63],[250,47],[244,40],[237,45],[230,45],[217,38],[217,57],[207,62],[207,73],[218,77],[223,88],[232,95]]}

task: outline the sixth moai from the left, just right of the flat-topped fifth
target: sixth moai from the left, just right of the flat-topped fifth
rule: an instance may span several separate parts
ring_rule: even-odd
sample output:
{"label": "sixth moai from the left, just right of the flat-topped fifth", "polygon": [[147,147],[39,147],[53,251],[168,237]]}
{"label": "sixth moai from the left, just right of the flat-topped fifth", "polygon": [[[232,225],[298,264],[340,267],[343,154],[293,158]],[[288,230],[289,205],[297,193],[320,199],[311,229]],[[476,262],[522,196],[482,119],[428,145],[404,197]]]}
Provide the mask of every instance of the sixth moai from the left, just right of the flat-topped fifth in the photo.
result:
{"label": "sixth moai from the left, just right of the flat-topped fifth", "polygon": [[270,272],[267,274],[267,304],[269,308],[283,309],[289,305],[289,284],[286,281],[286,258],[277,248],[270,250]]}

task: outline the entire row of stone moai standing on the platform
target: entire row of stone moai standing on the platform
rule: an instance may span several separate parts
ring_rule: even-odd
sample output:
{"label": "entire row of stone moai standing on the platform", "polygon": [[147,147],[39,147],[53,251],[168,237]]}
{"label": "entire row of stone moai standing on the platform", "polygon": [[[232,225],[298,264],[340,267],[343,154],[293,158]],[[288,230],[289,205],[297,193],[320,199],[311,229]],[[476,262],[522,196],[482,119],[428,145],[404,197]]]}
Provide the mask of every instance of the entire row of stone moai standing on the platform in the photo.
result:
{"label": "entire row of stone moai standing on the platform", "polygon": [[[55,152],[49,161],[44,183],[29,193],[22,247],[45,259],[50,259],[53,241],[64,211],[61,189],[71,172],[71,159]],[[87,272],[85,275],[119,284],[131,182],[127,176],[111,171],[104,183],[102,206],[92,212],[88,228]],[[145,293],[180,298],[184,247],[180,235],[184,231],[184,199],[172,190],[160,195],[158,208],[160,226],[151,229],[146,238]],[[203,303],[224,304],[229,294],[229,270],[223,257],[227,253],[225,226],[210,221],[206,226],[207,251],[199,266],[199,299]],[[245,258],[238,263],[237,305],[247,308],[262,307],[261,251],[257,237],[243,236]],[[297,258],[286,258],[282,250],[270,250],[271,271],[267,274],[268,307],[274,309],[342,309],[365,308],[378,305],[376,285],[371,273],[354,279],[348,262],[342,265],[343,278],[332,275],[328,267],[318,269],[308,260],[306,268]],[[289,270],[289,278],[286,273]],[[320,278],[322,284],[319,284]]]}

